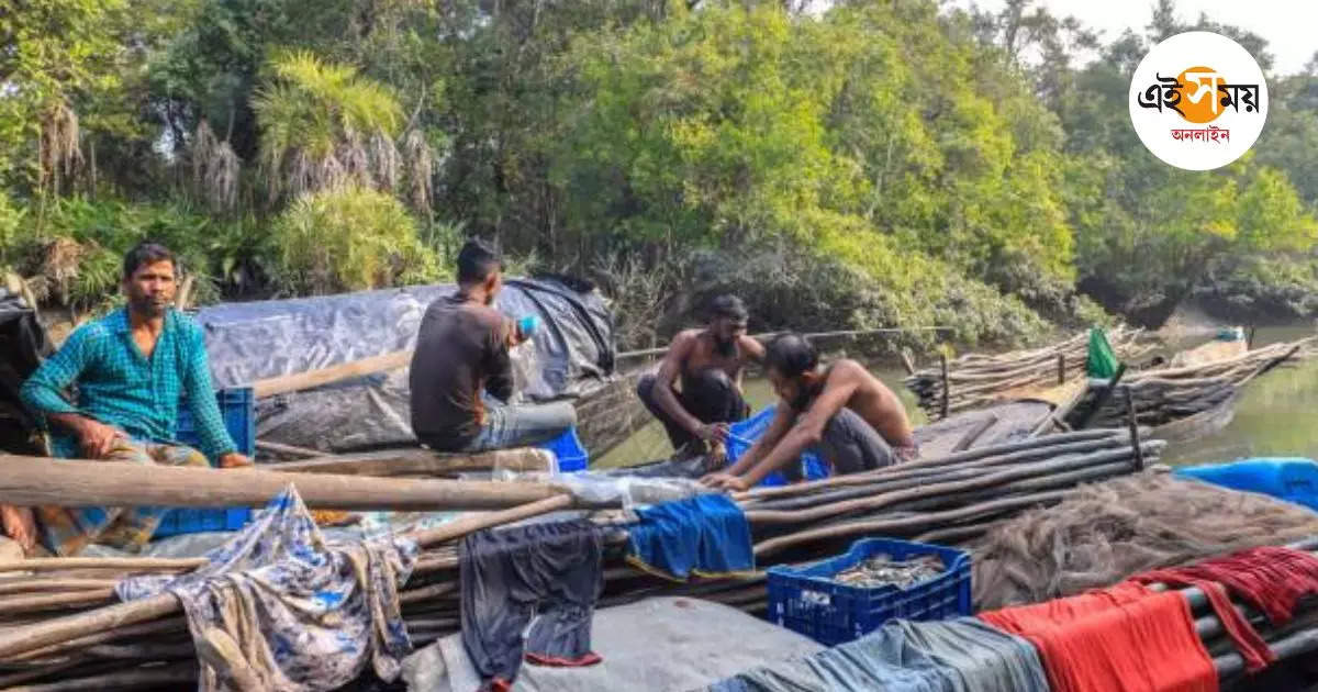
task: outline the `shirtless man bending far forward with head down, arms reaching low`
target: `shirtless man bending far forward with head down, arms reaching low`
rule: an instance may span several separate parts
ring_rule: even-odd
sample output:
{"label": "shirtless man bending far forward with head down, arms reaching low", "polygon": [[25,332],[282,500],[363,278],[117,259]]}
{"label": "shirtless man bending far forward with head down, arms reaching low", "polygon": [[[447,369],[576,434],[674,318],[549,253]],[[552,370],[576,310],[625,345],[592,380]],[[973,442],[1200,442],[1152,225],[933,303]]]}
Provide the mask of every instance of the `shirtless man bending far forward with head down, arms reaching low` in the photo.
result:
{"label": "shirtless man bending far forward with head down, arms reaching low", "polygon": [[900,399],[859,362],[840,360],[825,368],[809,341],[789,333],[768,347],[766,366],[782,398],[774,422],[726,472],[701,478],[705,485],[746,490],[807,449],[818,452],[837,475],[919,456]]}

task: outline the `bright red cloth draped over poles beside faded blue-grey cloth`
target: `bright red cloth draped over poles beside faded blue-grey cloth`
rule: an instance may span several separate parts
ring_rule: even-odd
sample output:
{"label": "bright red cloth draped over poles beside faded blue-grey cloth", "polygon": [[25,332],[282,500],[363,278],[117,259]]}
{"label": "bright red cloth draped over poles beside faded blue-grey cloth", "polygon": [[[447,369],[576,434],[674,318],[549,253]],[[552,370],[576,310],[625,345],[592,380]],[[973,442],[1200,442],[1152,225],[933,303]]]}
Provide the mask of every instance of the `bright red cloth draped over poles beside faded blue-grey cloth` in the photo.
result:
{"label": "bright red cloth draped over poles beside faded blue-grey cloth", "polygon": [[981,613],[1039,649],[1053,692],[1217,692],[1213,659],[1178,592],[1124,583]]}

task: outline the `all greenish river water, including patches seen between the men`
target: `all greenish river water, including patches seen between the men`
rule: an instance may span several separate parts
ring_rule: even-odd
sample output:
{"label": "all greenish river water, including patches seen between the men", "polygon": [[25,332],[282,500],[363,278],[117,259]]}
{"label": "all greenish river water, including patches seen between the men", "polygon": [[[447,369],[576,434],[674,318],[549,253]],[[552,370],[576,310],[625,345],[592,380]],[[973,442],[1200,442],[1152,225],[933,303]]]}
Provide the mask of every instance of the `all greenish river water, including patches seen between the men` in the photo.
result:
{"label": "all greenish river water, including patches seen between the men", "polygon": [[[1255,333],[1255,347],[1313,335],[1311,324],[1260,327]],[[1201,331],[1176,339],[1170,347],[1194,347],[1210,336],[1210,332]],[[873,372],[902,397],[913,424],[925,422],[915,395],[902,384],[904,372],[892,366],[875,368]],[[747,380],[746,398],[757,411],[775,399],[768,382],[759,378]],[[658,423],[650,423],[594,465],[634,465],[666,459],[671,452],[672,447],[663,428]],[[1318,359],[1296,368],[1276,368],[1249,382],[1242,391],[1235,418],[1227,427],[1197,440],[1169,446],[1164,449],[1162,461],[1177,465],[1211,464],[1251,456],[1318,457]]]}

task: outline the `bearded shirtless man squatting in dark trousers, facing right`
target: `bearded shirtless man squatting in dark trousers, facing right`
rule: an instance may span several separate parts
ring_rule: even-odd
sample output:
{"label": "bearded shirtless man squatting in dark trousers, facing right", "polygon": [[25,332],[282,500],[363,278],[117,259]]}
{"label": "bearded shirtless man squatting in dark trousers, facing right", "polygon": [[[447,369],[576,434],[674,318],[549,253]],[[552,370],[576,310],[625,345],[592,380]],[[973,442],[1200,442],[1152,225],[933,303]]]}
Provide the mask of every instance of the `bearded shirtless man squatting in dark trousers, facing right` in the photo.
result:
{"label": "bearded shirtless man squatting in dark trousers, facing right", "polygon": [[[677,456],[702,453],[728,438],[728,423],[749,414],[741,376],[747,360],[762,362],[764,347],[746,336],[746,307],[734,295],[710,303],[704,330],[679,333],[656,374],[637,384],[637,395],[668,432]],[[675,382],[680,380],[681,389]]]}

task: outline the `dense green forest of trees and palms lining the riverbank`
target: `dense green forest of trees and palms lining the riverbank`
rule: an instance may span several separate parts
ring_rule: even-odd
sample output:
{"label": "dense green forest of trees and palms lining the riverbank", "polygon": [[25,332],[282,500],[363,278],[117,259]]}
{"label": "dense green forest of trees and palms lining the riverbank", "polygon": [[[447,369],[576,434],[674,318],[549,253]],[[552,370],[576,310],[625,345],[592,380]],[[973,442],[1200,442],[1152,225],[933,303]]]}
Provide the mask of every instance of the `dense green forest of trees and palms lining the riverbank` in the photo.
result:
{"label": "dense green forest of trees and palms lining the riverbank", "polygon": [[[260,298],[438,279],[478,235],[600,278],[638,344],[709,286],[774,327],[967,341],[1195,291],[1310,310],[1318,63],[1269,80],[1252,158],[1173,170],[1124,115],[1148,46],[1269,58],[1168,1],[1106,43],[1035,0],[29,5],[0,13],[0,262],[57,299],[113,295],[148,236],[203,295]],[[223,203],[178,202],[194,166]]]}

